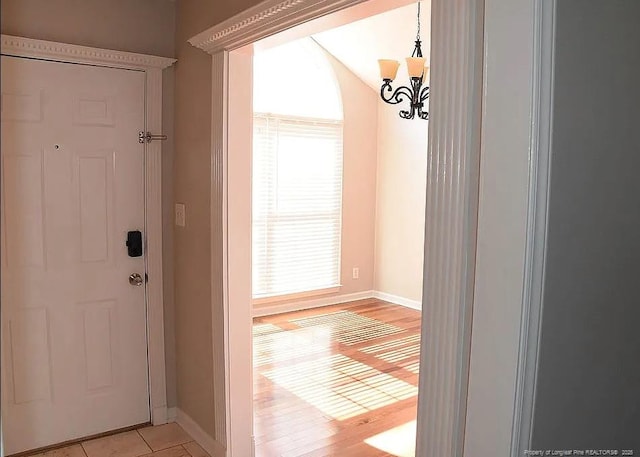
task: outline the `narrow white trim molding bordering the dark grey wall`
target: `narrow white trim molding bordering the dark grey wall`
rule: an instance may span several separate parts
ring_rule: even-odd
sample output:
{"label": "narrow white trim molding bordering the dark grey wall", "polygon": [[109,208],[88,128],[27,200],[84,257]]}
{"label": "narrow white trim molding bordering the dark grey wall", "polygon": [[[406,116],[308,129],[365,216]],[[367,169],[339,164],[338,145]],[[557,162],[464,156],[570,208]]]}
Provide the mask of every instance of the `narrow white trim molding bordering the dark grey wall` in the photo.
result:
{"label": "narrow white trim molding bordering the dark grey wall", "polygon": [[557,0],[535,4],[533,113],[522,323],[511,457],[531,449],[542,324],[551,179],[555,12]]}

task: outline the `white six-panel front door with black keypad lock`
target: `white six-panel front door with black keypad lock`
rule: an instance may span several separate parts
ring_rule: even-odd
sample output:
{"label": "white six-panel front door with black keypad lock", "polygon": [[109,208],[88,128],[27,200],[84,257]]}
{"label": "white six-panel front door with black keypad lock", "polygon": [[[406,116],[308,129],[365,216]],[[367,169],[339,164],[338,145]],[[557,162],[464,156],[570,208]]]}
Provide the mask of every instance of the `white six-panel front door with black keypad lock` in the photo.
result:
{"label": "white six-panel front door with black keypad lock", "polygon": [[2,56],[2,428],[22,452],[149,421],[143,72]]}

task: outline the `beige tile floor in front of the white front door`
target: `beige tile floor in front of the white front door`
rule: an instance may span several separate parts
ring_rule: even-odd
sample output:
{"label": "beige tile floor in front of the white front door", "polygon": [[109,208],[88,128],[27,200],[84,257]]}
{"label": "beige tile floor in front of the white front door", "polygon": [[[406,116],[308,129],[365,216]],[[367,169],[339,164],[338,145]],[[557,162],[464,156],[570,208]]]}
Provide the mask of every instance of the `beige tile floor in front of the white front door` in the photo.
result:
{"label": "beige tile floor in front of the white front door", "polygon": [[176,423],[144,427],[30,457],[209,457]]}

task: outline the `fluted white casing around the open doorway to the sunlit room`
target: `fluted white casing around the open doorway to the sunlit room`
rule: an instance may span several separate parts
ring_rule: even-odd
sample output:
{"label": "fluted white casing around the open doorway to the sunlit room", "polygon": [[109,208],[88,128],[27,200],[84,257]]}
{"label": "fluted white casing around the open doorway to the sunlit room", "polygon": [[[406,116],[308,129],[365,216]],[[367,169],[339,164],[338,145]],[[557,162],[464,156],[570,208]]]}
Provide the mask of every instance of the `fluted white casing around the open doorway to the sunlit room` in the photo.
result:
{"label": "fluted white casing around the open doorway to the sunlit room", "polygon": [[[250,166],[250,150],[244,150],[250,132],[247,135],[242,127],[243,121],[247,124],[246,109],[234,103],[242,97],[238,81],[246,81],[236,72],[247,61],[251,65],[239,49],[344,8],[361,4],[358,8],[366,9],[374,3],[380,2],[266,0],[189,40],[212,55],[211,262],[212,283],[220,285],[212,290],[215,440],[226,447],[227,456],[254,451],[247,300],[251,288],[246,273],[251,268],[251,234],[246,224],[238,225],[250,221],[251,206],[246,173],[234,181],[241,167]],[[425,246],[433,248],[425,249],[421,372],[438,375],[429,376],[428,383],[425,375],[420,380],[419,455],[461,456],[464,447],[478,221],[483,13],[483,1],[432,0],[431,85],[440,90],[432,92],[430,106],[443,114],[429,125],[432,159],[427,170]],[[434,331],[425,332],[425,323]]]}

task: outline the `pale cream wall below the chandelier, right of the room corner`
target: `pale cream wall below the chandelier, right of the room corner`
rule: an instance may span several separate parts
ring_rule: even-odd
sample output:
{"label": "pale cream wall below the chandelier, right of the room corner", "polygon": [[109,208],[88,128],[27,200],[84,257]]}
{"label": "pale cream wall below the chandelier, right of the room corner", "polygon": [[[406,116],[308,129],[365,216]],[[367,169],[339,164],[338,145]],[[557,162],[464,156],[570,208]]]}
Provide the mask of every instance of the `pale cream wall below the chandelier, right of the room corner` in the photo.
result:
{"label": "pale cream wall below the chandelier, right of the room corner", "polygon": [[378,102],[378,179],[374,287],[422,302],[427,125]]}

